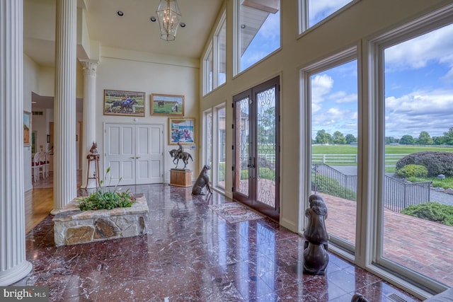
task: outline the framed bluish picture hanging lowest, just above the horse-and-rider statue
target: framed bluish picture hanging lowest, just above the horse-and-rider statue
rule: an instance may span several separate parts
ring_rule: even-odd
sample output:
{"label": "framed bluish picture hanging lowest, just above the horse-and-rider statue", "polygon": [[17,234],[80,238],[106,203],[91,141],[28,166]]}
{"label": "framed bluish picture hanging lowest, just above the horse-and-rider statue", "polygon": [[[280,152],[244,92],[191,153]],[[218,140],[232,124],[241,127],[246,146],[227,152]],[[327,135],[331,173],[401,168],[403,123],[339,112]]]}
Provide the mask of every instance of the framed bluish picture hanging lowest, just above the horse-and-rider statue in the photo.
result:
{"label": "framed bluish picture hanging lowest, just above the horse-and-rider statue", "polygon": [[195,144],[195,119],[168,119],[168,144]]}

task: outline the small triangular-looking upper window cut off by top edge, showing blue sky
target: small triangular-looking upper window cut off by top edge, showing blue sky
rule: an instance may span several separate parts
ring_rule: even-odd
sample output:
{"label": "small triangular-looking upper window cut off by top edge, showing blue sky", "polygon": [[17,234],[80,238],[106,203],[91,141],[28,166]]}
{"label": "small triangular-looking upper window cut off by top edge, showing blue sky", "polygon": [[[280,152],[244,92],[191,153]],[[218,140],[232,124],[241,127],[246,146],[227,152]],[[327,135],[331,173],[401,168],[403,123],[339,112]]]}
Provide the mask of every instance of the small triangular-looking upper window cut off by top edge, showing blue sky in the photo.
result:
{"label": "small triangular-looking upper window cut off by top edge, showing blue sky", "polygon": [[313,27],[353,0],[300,0],[299,31]]}

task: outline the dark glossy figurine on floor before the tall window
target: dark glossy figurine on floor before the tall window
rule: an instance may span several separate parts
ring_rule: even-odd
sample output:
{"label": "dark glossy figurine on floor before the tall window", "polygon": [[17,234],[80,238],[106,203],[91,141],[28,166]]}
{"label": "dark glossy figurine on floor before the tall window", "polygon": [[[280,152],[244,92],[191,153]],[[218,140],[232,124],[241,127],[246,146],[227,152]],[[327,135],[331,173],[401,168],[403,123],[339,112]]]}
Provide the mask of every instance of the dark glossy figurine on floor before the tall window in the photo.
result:
{"label": "dark glossy figurine on floor before the tall window", "polygon": [[318,194],[309,197],[309,204],[309,209],[305,210],[309,223],[304,231],[304,272],[323,275],[328,265],[328,233],[324,223],[327,207]]}

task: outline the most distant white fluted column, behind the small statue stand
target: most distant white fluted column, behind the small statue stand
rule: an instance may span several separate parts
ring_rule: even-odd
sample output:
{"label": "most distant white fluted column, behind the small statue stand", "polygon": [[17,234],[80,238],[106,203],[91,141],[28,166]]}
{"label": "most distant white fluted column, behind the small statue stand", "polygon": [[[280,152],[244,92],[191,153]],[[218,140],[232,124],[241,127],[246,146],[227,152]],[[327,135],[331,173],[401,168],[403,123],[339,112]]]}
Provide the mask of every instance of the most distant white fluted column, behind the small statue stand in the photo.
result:
{"label": "most distant white fluted column, behind the small statue stand", "polygon": [[[84,129],[82,140],[82,184],[84,189],[96,188],[96,180],[91,179],[87,183],[88,160],[86,156],[96,141],[96,67],[97,60],[79,60],[84,67]],[[89,175],[94,173],[94,162],[91,163]]]}

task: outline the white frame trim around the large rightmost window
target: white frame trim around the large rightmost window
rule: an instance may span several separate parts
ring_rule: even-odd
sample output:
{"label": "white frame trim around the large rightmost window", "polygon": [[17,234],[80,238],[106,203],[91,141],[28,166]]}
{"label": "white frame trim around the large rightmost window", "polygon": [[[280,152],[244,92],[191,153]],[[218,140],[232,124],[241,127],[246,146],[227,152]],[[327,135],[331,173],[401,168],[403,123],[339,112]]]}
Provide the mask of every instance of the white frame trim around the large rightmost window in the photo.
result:
{"label": "white frame trim around the large rightmost window", "polygon": [[[365,265],[370,272],[377,274],[391,283],[402,286],[404,290],[419,297],[427,297],[429,293],[415,286],[413,281],[421,284],[434,292],[444,291],[446,288],[431,279],[414,273],[409,269],[397,265],[394,262],[382,258],[382,192],[384,170],[384,131],[385,131],[385,108],[384,108],[384,50],[400,42],[412,39],[418,35],[429,33],[444,25],[453,23],[453,5],[445,6],[433,11],[426,16],[406,23],[390,30],[387,33],[372,37],[363,43],[364,54],[368,54],[367,62],[364,62],[364,97],[369,107],[369,132],[367,144],[369,152],[363,153],[365,158],[363,170],[367,182],[363,183],[364,196],[367,197],[366,213],[367,244],[363,245],[362,253],[367,255]],[[373,160],[374,158],[374,160]],[[377,171],[377,173],[376,173]],[[373,202],[378,200],[379,202]],[[377,204],[377,205],[374,205]],[[385,268],[383,268],[385,267]],[[393,274],[389,272],[391,269]],[[401,277],[396,277],[398,274]],[[408,281],[411,280],[411,282]]]}

